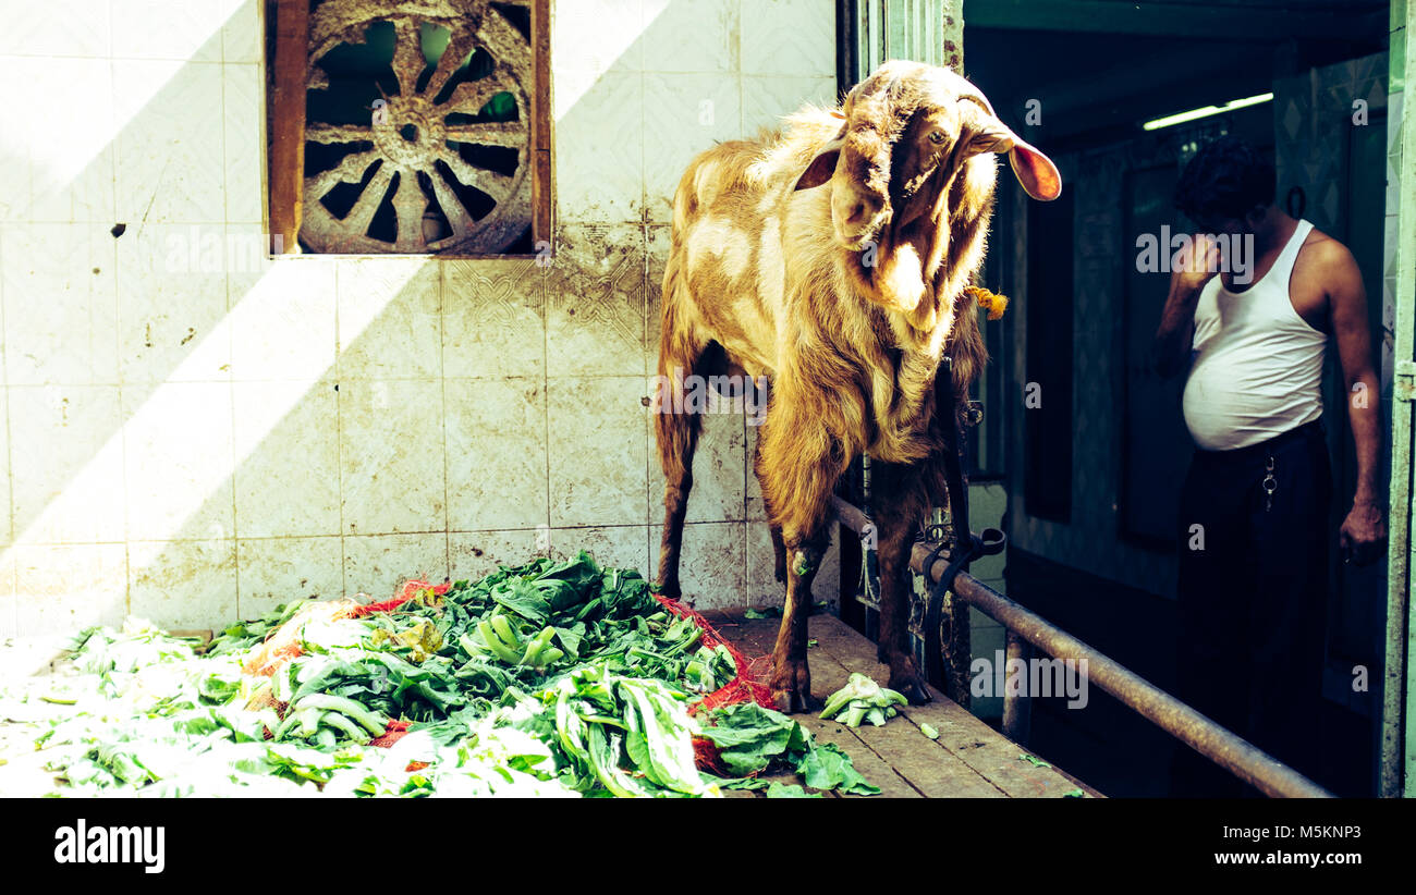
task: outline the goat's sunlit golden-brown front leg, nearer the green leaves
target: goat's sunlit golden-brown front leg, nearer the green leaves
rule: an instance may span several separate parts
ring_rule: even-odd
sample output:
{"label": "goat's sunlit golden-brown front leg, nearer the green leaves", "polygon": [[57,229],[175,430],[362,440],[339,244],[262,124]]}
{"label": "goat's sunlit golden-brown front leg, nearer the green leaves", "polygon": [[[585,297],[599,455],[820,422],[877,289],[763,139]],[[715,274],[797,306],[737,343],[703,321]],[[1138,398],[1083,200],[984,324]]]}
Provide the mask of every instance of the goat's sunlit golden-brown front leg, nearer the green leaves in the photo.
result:
{"label": "goat's sunlit golden-brown front leg, nearer the green leaves", "polygon": [[772,651],[772,698],[784,712],[807,711],[811,670],[807,664],[807,619],[811,582],[830,542],[830,500],[845,470],[844,452],[830,435],[790,414],[763,426],[758,467],[763,497],[782,531],[779,561],[786,561],[786,606]]}

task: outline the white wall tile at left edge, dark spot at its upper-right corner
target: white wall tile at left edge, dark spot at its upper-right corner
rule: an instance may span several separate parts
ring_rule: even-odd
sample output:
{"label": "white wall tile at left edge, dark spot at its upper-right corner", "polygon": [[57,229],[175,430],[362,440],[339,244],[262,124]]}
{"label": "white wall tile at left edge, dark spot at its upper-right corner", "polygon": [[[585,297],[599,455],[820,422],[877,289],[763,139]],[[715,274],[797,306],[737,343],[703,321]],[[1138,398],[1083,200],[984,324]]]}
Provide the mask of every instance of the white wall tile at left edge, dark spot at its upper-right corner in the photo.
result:
{"label": "white wall tile at left edge, dark spot at its upper-right corner", "polygon": [[10,385],[118,382],[113,258],[91,224],[0,228]]}

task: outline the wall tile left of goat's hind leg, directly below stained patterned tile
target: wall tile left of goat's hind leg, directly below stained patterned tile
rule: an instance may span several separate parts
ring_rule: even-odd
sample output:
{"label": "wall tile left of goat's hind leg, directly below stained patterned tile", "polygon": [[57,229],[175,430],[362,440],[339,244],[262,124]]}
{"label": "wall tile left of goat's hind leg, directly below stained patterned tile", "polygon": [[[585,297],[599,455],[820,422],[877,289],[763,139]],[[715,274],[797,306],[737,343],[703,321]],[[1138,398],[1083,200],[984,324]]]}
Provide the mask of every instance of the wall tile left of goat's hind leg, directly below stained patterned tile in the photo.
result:
{"label": "wall tile left of goat's hind leg, directly below stained patterned tile", "polygon": [[551,380],[551,525],[647,520],[644,380]]}

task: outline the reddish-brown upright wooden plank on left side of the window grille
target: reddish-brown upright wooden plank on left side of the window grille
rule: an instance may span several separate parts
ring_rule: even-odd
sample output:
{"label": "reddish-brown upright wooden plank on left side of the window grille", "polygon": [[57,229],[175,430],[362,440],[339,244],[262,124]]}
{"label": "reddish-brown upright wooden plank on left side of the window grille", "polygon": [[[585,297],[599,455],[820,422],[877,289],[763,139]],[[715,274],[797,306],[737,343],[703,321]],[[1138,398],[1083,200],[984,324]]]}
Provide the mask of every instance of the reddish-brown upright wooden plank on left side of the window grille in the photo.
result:
{"label": "reddish-brown upright wooden plank on left side of the window grille", "polygon": [[[304,190],[304,86],[310,52],[309,0],[272,0],[275,64],[270,67],[270,235],[272,251],[300,251]],[[279,236],[279,244],[275,238]]]}

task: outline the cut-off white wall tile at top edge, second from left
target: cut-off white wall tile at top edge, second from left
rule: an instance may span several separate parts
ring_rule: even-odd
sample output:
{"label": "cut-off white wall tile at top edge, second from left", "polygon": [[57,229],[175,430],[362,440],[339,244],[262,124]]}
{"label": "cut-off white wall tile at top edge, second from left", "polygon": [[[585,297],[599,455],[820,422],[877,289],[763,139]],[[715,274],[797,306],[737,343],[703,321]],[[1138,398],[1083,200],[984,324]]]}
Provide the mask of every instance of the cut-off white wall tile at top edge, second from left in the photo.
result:
{"label": "cut-off white wall tile at top edge, second from left", "polygon": [[229,3],[120,0],[113,16],[119,59],[221,61],[221,27]]}

